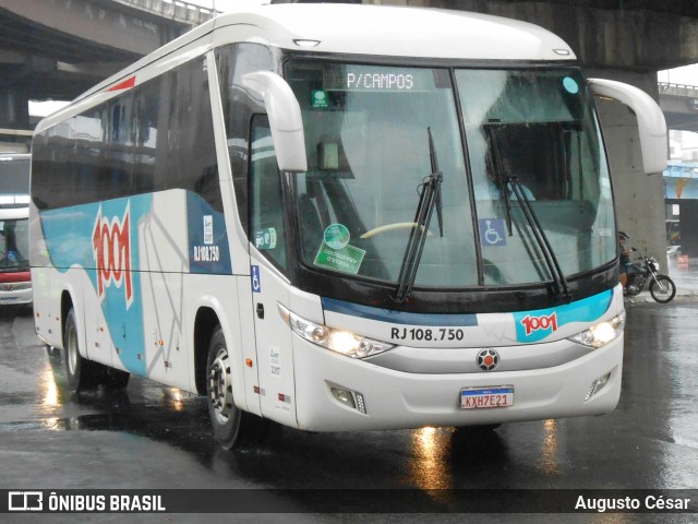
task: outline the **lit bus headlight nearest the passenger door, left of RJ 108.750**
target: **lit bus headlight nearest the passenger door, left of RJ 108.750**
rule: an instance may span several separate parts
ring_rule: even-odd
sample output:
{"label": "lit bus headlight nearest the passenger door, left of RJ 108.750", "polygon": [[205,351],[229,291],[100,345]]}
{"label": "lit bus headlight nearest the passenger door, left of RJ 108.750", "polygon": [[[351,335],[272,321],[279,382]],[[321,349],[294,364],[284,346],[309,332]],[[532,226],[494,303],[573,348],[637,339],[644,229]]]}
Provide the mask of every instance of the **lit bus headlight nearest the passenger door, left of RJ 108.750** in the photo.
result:
{"label": "lit bus headlight nearest the passenger door, left of RJ 108.750", "polygon": [[280,303],[279,314],[291,327],[293,333],[313,344],[347,355],[351,358],[365,358],[377,355],[395,347],[393,344],[374,341],[365,336],[356,335],[348,331],[335,330],[323,324],[316,324],[289,311]]}

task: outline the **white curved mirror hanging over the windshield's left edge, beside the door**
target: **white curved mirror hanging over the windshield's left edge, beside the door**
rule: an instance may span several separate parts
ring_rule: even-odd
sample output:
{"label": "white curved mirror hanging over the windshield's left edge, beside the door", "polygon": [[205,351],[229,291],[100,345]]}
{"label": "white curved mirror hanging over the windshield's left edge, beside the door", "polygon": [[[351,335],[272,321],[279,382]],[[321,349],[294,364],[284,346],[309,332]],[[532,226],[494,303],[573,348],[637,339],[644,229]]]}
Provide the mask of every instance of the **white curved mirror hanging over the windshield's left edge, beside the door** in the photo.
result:
{"label": "white curved mirror hanging over the windshield's left edge, beside the door", "polygon": [[272,71],[246,73],[242,76],[242,85],[257,93],[264,100],[279,170],[306,171],[303,120],[291,86]]}

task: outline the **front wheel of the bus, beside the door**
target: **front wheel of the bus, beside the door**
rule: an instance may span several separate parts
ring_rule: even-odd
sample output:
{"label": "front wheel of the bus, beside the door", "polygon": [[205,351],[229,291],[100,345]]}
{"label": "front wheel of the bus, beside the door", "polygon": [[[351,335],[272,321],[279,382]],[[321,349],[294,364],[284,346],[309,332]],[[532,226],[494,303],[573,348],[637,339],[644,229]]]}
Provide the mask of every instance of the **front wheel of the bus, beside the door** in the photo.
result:
{"label": "front wheel of the bus, beside the door", "polygon": [[242,410],[232,398],[231,365],[226,337],[218,325],[208,344],[206,396],[214,437],[226,450],[236,446],[242,418]]}

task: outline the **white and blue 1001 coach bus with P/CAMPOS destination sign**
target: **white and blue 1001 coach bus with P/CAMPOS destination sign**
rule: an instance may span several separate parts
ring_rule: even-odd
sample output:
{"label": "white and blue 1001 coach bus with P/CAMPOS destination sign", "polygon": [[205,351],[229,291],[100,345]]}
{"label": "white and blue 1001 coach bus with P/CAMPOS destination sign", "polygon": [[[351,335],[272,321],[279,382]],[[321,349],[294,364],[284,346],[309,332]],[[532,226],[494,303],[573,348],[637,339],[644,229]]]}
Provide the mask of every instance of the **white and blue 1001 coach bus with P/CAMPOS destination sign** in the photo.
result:
{"label": "white and blue 1001 coach bus with P/CAMPOS destination sign", "polygon": [[[130,374],[313,431],[605,414],[623,366],[613,193],[587,80],[522,22],[228,13],[43,120],[36,331],[74,390]],[[252,416],[254,415],[254,416]],[[243,422],[241,424],[241,420]]]}

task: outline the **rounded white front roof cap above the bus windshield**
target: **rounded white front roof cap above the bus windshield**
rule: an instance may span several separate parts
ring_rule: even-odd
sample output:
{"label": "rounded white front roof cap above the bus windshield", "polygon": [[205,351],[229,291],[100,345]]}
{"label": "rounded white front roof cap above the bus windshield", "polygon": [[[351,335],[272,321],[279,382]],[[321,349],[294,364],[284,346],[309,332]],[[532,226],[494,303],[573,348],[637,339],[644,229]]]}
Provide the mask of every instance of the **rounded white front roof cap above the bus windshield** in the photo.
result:
{"label": "rounded white front roof cap above the bus windshield", "polygon": [[456,10],[363,4],[272,4],[225,14],[216,26],[243,19],[268,44],[317,52],[471,60],[561,60],[575,56],[538,25]]}

